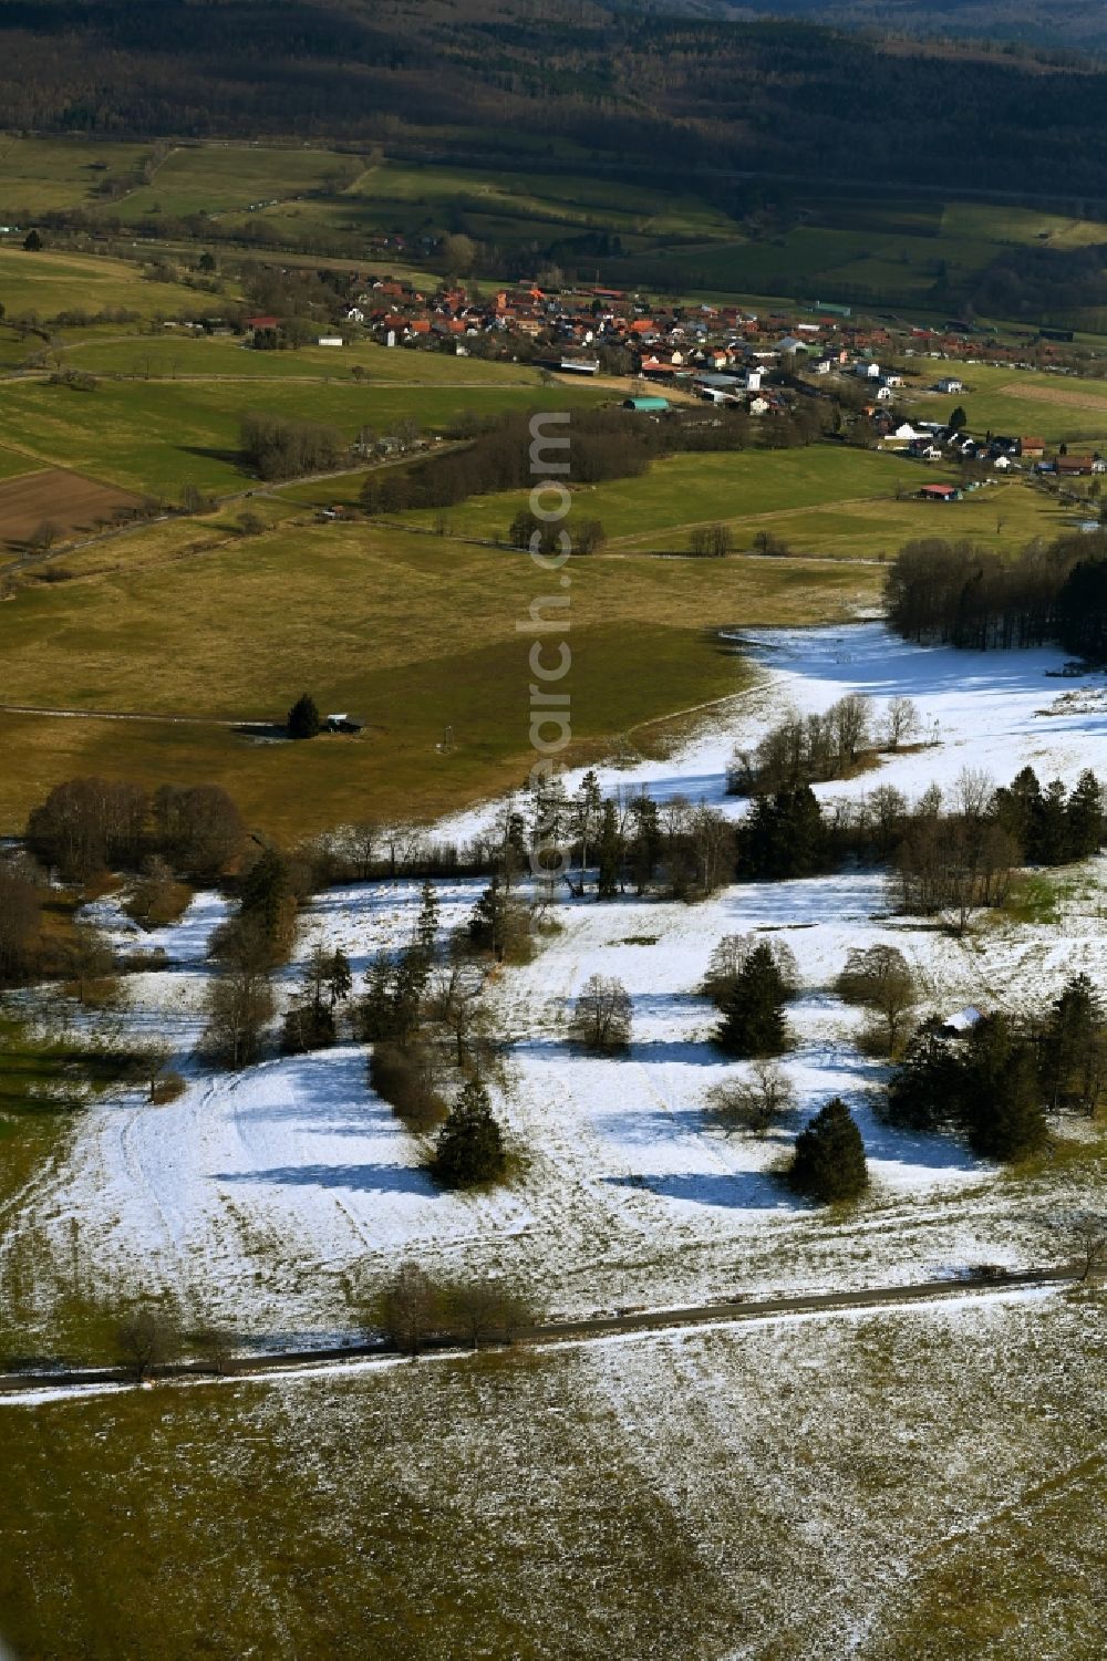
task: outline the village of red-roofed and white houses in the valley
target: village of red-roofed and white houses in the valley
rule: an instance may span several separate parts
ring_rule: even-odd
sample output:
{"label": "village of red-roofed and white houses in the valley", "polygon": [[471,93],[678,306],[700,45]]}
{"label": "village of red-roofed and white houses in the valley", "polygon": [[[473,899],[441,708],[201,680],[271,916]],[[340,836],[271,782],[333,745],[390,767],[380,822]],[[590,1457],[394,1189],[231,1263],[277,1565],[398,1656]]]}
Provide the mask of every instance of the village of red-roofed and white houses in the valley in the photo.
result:
{"label": "village of red-roofed and white houses in the valley", "polygon": [[[218,319],[216,327],[226,322]],[[308,344],[303,327],[273,314],[243,317],[238,329],[258,349]],[[366,339],[387,349],[532,364],[550,379],[593,380],[625,390],[623,407],[648,415],[696,400],[755,419],[785,415],[803,400],[833,404],[829,437],[962,467],[957,483],[919,488],[931,502],[959,502],[989,473],[1060,483],[1107,472],[1099,448],[1069,453],[1064,440],[1050,445],[1031,432],[971,432],[959,407],[944,420],[931,419],[937,400],[956,405],[972,390],[966,377],[974,365],[1070,379],[1097,374],[1097,355],[1077,347],[1072,331],[873,321],[854,317],[849,306],[818,301],[793,312],[756,312],[607,287],[529,284],[484,294],[442,282],[432,291],[354,274],[332,327],[311,344],[341,350]],[[942,364],[962,365],[962,372]]]}

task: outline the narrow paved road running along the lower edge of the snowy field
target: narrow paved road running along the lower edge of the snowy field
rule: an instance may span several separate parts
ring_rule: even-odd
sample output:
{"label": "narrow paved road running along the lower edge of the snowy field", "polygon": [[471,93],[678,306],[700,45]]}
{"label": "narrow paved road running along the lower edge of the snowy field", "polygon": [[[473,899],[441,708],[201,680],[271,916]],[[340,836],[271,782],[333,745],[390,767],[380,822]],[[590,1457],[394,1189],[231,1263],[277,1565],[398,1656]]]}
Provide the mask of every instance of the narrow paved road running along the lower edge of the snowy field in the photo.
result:
{"label": "narrow paved road running along the lower edge of the snowy field", "polygon": [[[691,1304],[683,1309],[615,1309],[600,1311],[575,1320],[547,1320],[535,1327],[527,1327],[514,1335],[517,1345],[542,1347],[558,1342],[588,1342],[618,1337],[630,1332],[673,1332],[681,1327],[708,1327],[741,1324],[743,1320],[788,1320],[800,1316],[833,1316],[848,1309],[901,1309],[909,1304],[932,1302],[936,1299],[986,1299],[997,1292],[1019,1291],[1022,1287],[1064,1286],[1084,1277],[1080,1264],[1054,1264],[1044,1269],[1021,1269],[999,1274],[976,1274],[962,1281],[918,1281],[909,1286],[874,1286],[848,1292],[809,1292],[791,1297],[743,1297],[720,1299],[713,1304]],[[430,1340],[427,1350],[459,1350],[455,1339]],[[312,1350],[269,1350],[264,1355],[236,1359],[228,1362],[221,1372],[234,1379],[251,1379],[269,1374],[296,1372],[311,1369],[326,1374],[329,1369],[346,1365],[351,1360],[391,1360],[396,1357],[394,1345],[387,1342],[351,1342],[332,1349]],[[213,1369],[199,1362],[181,1362],[163,1369],[165,1380],[211,1377]],[[131,1375],[123,1367],[101,1367],[95,1370],[73,1372],[65,1369],[27,1369],[20,1372],[0,1374],[0,1400],[17,1399],[28,1390],[50,1390],[57,1395],[80,1394],[88,1385],[128,1384]]]}

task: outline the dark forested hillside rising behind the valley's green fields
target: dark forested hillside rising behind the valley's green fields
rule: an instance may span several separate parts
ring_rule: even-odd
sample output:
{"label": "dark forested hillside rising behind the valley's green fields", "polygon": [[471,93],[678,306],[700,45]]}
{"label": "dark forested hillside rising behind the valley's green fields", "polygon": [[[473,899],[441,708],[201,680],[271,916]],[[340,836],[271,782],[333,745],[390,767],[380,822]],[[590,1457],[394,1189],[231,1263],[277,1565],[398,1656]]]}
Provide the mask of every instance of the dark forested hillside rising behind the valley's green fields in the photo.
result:
{"label": "dark forested hillside rising behind the valley's green fields", "polygon": [[1107,71],[808,23],[477,0],[8,0],[0,126],[331,136],[1107,196]]}

